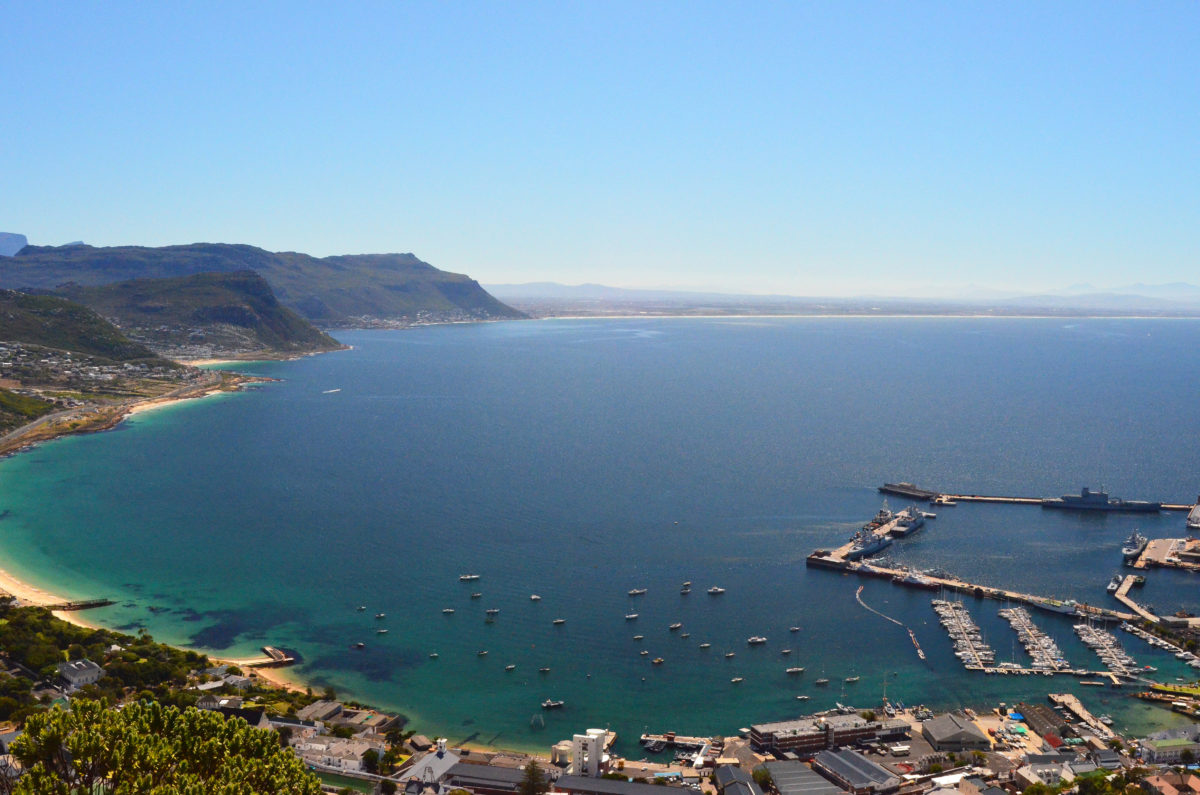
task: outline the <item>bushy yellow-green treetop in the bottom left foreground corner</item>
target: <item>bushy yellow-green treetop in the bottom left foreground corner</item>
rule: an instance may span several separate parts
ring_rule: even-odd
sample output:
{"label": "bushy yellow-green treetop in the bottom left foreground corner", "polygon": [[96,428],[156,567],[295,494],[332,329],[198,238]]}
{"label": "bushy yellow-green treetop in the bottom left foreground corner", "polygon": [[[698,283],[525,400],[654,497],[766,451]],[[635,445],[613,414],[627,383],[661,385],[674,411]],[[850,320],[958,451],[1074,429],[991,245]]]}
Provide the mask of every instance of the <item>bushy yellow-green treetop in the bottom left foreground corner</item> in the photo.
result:
{"label": "bushy yellow-green treetop in the bottom left foreground corner", "polygon": [[77,699],[70,712],[32,715],[13,755],[28,771],[18,795],[320,793],[320,781],[274,733],[157,703],[112,710]]}

